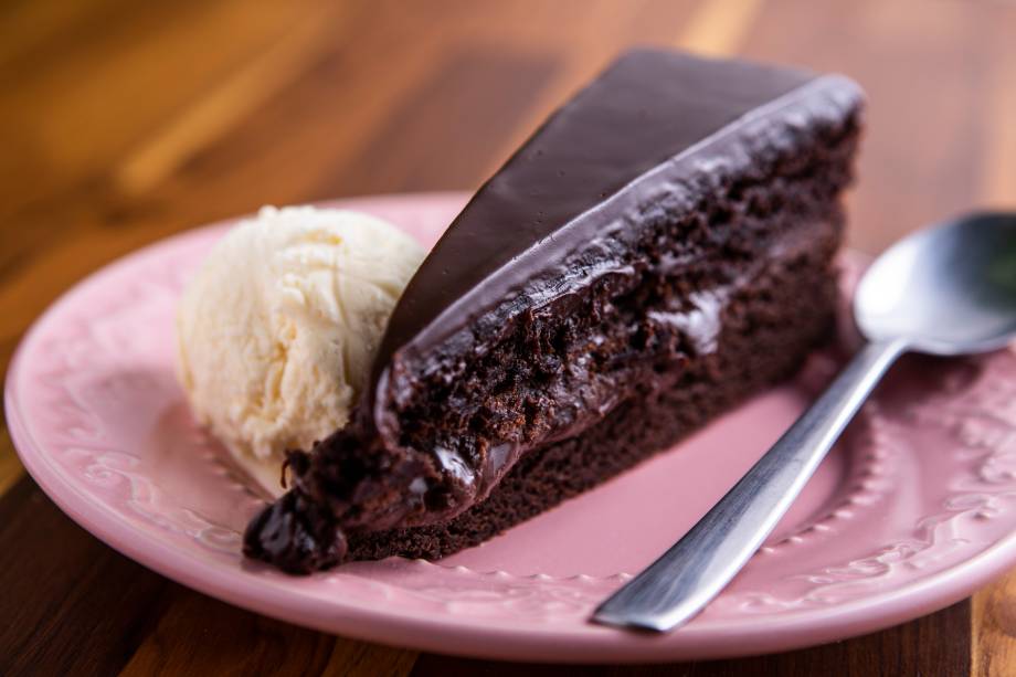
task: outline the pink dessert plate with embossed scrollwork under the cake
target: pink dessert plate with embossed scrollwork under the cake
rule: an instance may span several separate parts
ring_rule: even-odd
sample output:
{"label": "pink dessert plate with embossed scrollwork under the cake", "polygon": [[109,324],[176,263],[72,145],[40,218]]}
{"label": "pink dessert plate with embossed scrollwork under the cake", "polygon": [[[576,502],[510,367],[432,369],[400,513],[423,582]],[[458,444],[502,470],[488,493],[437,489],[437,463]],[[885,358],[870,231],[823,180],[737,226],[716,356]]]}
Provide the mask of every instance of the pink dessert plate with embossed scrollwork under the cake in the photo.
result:
{"label": "pink dessert plate with embossed scrollwork under the cake", "polygon": [[[336,204],[430,245],[462,194]],[[25,467],[112,547],[226,602],[351,637],[489,658],[648,662],[776,652],[876,631],[1016,564],[1016,355],[904,360],[734,582],[648,636],[590,611],[684,533],[837,369],[790,383],[597,489],[440,562],[356,562],[293,578],[241,557],[263,498],[191,419],[173,377],[181,286],[229,223],[183,233],[77,285],[7,380]],[[851,271],[847,254],[845,296]],[[849,349],[844,331],[842,348]]]}

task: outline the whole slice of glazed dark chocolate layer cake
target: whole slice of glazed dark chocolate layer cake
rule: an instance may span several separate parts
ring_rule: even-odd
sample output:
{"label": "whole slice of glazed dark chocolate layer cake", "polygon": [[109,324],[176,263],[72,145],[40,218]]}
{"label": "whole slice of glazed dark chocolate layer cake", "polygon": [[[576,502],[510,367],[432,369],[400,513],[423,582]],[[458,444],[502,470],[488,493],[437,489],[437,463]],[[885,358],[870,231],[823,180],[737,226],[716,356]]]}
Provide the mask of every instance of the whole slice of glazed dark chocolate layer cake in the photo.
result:
{"label": "whole slice of glazed dark chocolate layer cake", "polygon": [[842,76],[623,55],[455,219],[244,552],[440,558],[791,375],[832,327],[861,106]]}

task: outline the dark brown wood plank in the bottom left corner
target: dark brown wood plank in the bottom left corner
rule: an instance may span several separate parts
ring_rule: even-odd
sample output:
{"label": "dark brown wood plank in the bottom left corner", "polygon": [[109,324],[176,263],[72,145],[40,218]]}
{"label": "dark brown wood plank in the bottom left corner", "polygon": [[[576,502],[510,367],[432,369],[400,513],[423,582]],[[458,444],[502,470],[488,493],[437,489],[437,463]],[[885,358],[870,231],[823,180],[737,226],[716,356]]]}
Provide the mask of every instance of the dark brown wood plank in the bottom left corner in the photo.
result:
{"label": "dark brown wood plank in the bottom left corner", "polygon": [[72,522],[28,477],[0,498],[0,675],[116,674],[172,588]]}

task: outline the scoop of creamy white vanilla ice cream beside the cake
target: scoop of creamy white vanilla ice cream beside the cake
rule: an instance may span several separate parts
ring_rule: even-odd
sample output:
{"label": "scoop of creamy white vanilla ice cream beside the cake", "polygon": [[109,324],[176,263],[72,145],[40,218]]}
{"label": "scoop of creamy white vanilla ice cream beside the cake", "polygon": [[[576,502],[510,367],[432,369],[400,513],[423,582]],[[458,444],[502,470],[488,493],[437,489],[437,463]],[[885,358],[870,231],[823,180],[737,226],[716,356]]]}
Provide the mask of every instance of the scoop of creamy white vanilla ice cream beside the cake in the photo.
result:
{"label": "scoop of creamy white vanilla ice cream beside the cake", "polygon": [[286,449],[348,421],[424,254],[367,214],[266,207],[184,289],[177,339],[191,409],[271,493],[282,493]]}

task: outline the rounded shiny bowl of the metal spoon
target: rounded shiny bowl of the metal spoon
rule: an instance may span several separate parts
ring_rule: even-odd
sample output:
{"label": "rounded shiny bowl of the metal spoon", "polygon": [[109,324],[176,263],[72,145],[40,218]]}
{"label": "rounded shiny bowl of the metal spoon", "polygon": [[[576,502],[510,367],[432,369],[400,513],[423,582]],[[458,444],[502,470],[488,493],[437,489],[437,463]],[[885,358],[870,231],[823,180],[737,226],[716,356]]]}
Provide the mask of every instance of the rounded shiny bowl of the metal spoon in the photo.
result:
{"label": "rounded shiny bowl of the metal spoon", "polygon": [[865,273],[854,317],[868,340],[919,352],[1001,348],[1016,334],[1016,214],[974,214],[896,243]]}

